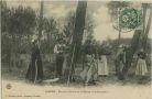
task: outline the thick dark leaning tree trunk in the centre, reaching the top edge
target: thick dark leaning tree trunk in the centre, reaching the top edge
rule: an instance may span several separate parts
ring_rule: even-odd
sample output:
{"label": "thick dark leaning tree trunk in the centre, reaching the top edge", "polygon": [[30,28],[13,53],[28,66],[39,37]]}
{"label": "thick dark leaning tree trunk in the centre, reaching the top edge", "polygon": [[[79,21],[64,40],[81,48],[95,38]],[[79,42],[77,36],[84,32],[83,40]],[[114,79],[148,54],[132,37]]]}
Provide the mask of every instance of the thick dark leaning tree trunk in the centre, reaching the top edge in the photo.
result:
{"label": "thick dark leaning tree trunk in the centre, reaching the top edge", "polygon": [[74,69],[79,57],[79,50],[82,46],[82,40],[85,29],[85,19],[86,19],[86,9],[87,9],[87,1],[78,1],[77,10],[76,10],[76,21],[75,21],[75,29],[73,34],[73,46],[72,46],[72,62],[70,62],[70,69],[68,75],[68,81],[73,78]]}

